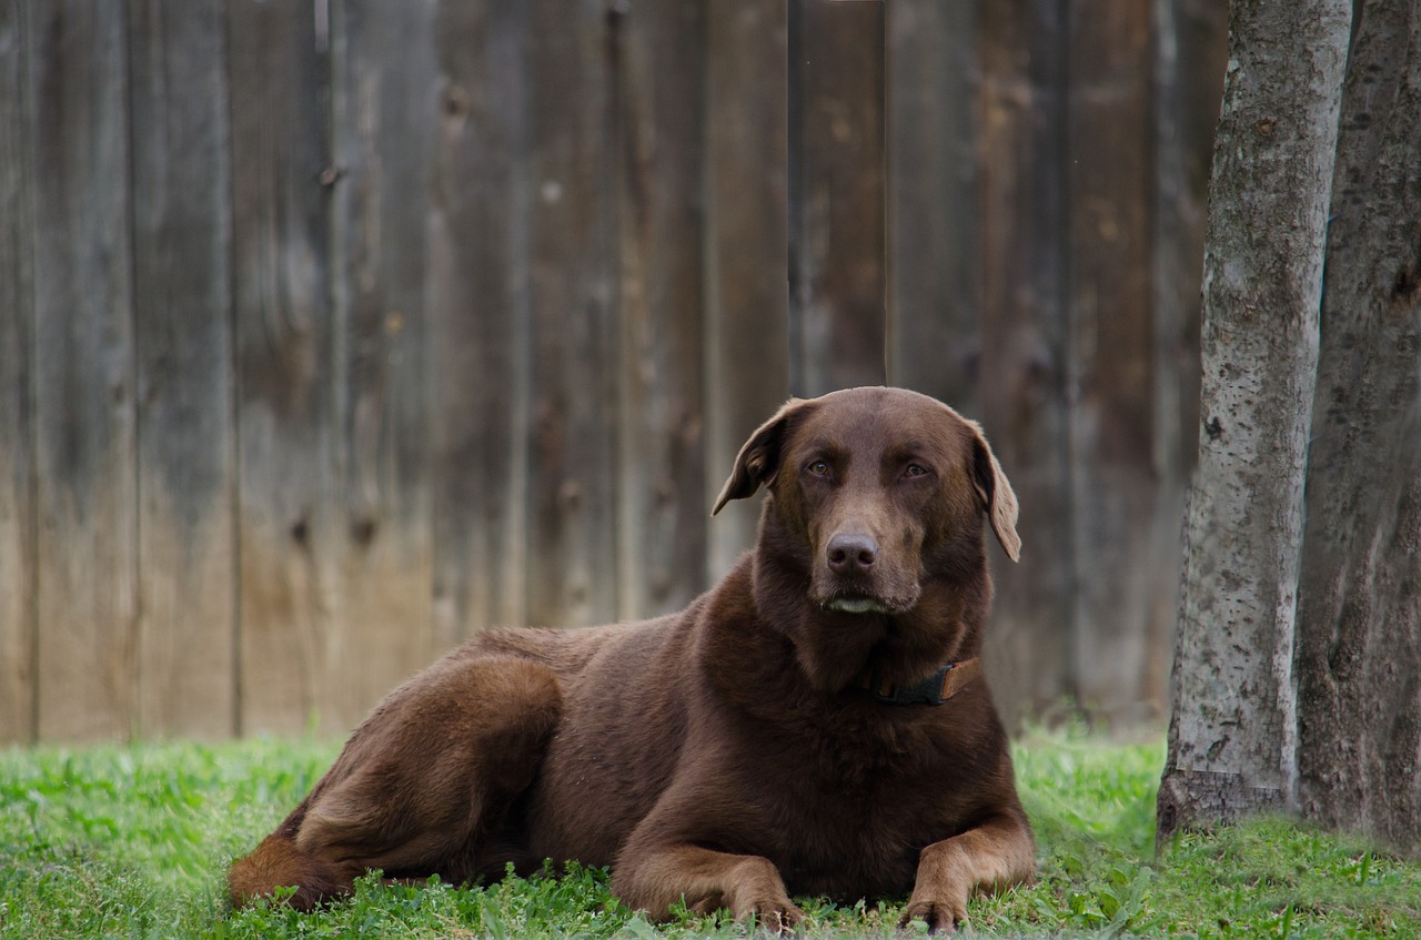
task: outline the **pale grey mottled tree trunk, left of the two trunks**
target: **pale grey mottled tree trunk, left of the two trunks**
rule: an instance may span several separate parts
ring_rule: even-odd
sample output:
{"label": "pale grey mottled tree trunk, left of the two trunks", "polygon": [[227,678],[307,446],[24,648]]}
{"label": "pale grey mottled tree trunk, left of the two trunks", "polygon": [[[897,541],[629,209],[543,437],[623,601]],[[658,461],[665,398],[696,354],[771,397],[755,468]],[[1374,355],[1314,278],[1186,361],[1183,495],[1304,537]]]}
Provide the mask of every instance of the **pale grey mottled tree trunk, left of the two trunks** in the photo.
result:
{"label": "pale grey mottled tree trunk, left of the two trunks", "polygon": [[1350,0],[1233,4],[1160,835],[1287,805],[1303,474]]}

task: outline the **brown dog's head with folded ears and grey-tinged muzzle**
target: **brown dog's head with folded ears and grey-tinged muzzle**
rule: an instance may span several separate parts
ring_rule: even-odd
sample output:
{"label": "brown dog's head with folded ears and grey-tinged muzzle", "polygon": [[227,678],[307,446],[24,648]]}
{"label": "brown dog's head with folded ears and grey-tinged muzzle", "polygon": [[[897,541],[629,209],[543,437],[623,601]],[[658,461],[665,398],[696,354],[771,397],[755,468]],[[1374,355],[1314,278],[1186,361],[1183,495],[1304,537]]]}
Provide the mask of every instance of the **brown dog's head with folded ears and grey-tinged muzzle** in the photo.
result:
{"label": "brown dog's head with folded ears and grey-tinged muzzle", "polygon": [[826,611],[902,615],[926,581],[972,578],[983,518],[1020,554],[1016,494],[982,429],[915,392],[790,400],[740,449],[715,511],[760,486],[762,551],[803,567]]}

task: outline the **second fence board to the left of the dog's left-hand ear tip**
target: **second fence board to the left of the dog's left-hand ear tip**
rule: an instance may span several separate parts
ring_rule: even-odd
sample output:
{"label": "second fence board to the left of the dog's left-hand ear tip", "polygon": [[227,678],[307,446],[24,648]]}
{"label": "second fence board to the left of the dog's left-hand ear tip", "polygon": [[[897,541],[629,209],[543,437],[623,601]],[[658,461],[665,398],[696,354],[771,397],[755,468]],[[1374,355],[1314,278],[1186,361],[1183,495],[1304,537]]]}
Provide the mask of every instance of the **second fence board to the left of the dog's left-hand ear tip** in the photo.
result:
{"label": "second fence board to the left of the dog's left-hand ear tip", "polygon": [[617,616],[615,202],[601,3],[530,4],[527,616]]}

